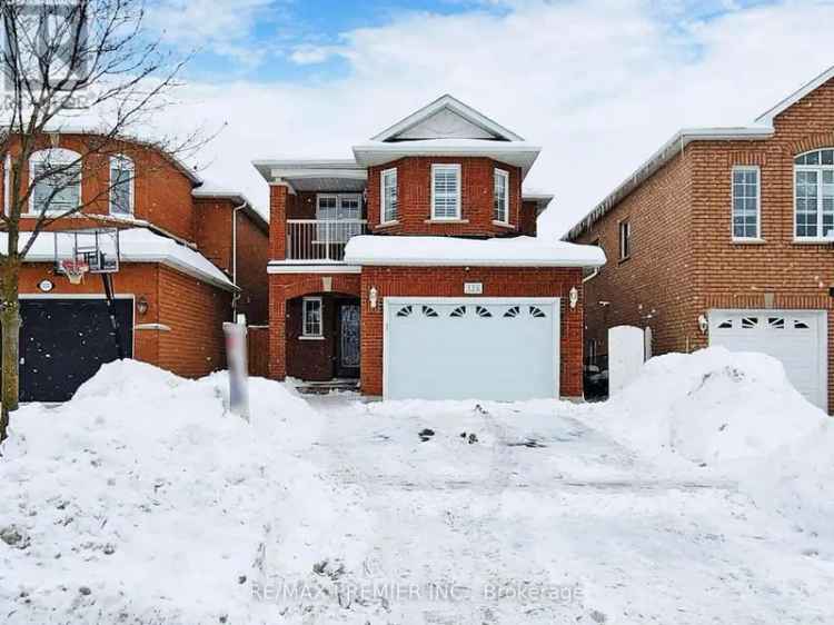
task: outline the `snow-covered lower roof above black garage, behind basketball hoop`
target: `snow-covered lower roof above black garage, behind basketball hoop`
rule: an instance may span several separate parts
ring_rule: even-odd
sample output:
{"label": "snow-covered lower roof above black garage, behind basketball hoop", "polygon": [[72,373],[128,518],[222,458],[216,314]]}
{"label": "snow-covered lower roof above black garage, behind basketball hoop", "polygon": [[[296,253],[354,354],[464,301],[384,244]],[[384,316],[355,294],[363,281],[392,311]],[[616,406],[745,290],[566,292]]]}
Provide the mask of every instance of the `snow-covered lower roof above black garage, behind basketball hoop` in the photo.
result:
{"label": "snow-covered lower roof above black garage, behind basketball hoop", "polygon": [[[29,236],[29,232],[20,234],[19,249],[23,249]],[[0,247],[4,249],[7,245],[8,235],[0,232]],[[27,254],[26,261],[53,262],[54,246],[54,232],[41,232]],[[222,289],[235,290],[235,285],[226,274],[199,251],[168,237],[156,235],[147,228],[120,230],[119,252],[122,262],[159,262]]]}

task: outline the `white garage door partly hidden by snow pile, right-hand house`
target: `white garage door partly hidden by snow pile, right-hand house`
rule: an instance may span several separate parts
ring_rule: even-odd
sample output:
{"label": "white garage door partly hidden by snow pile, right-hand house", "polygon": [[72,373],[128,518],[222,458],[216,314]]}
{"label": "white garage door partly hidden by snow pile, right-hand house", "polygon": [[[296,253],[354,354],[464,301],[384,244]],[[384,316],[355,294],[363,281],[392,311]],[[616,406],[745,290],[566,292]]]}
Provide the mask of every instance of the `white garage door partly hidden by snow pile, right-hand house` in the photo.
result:
{"label": "white garage door partly hidden by snow pile, right-hand house", "polygon": [[824,310],[712,310],[709,344],[778,358],[800,393],[827,409],[827,327]]}

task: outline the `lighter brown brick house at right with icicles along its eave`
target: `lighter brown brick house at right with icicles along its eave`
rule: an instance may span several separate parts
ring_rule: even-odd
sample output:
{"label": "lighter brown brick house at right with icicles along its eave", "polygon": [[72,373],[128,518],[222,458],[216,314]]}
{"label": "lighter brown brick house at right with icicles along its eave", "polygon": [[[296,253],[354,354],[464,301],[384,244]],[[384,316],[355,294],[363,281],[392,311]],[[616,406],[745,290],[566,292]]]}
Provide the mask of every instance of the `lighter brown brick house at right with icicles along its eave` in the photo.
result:
{"label": "lighter brown brick house at right with icicles along its eave", "polygon": [[656,354],[771,354],[830,409],[834,68],[749,127],[681,130],[566,239],[609,257],[585,284],[592,360],[612,326],[648,327]]}

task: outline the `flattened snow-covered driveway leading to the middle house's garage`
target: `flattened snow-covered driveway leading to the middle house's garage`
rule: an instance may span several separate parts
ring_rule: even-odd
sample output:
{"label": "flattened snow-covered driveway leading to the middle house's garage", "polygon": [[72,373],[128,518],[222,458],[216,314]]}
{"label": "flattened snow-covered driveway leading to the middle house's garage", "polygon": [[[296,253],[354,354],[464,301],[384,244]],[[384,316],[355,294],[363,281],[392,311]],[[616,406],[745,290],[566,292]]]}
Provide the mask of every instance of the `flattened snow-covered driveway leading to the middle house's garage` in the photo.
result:
{"label": "flattened snow-covered driveway leading to the middle house's garage", "polygon": [[622,447],[593,406],[310,401],[308,459],[371,519],[334,528],[366,543],[346,612],[369,623],[831,622],[831,552],[733,480]]}

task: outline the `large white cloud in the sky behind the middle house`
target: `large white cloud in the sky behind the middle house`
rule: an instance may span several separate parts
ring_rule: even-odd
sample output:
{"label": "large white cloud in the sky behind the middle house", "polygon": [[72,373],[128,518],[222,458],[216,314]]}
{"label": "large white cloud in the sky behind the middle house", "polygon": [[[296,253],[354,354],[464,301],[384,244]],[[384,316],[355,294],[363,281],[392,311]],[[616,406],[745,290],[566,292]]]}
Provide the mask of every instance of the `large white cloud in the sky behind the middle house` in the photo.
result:
{"label": "large white cloud in the sky behind the middle house", "polygon": [[[342,33],[338,54],[350,72],[312,86],[191,85],[190,103],[168,123],[228,121],[203,155],[208,175],[266,209],[254,158],[346,157],[451,92],[544,147],[528,182],[556,195],[540,224],[555,234],[677,128],[748,123],[834,62],[830,3],[735,10],[675,28],[638,0],[510,7],[500,16],[406,13]],[[324,58],[311,48],[295,60]]]}

